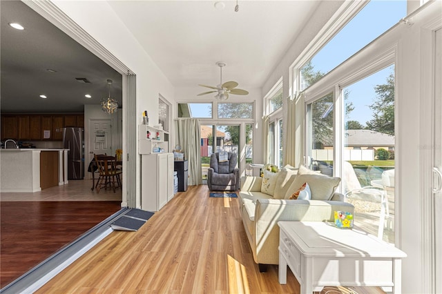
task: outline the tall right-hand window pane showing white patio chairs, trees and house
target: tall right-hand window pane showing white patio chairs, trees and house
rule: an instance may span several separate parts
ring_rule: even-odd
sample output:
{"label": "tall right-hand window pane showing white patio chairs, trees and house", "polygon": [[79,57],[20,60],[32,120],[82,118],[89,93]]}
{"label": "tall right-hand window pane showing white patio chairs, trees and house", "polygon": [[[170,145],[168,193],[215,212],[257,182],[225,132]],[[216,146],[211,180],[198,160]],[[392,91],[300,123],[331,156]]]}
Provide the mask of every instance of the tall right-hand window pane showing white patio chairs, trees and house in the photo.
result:
{"label": "tall right-hand window pane showing white patio chairs, trees and house", "polygon": [[394,66],[388,66],[343,89],[343,193],[355,207],[354,224],[390,243],[395,210],[394,88]]}

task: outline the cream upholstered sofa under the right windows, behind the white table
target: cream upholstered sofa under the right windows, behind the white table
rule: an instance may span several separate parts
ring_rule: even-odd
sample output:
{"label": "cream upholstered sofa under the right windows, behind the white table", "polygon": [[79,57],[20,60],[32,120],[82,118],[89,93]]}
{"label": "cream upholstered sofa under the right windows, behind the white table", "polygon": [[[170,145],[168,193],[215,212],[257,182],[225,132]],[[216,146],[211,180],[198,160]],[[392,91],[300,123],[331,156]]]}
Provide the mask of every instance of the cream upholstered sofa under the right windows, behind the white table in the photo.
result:
{"label": "cream upholstered sofa under the right windows, behind the white table", "polygon": [[[300,166],[299,172],[282,168],[276,174],[276,182],[273,179],[273,194],[271,189],[264,188],[263,179],[267,182],[266,175],[264,178],[243,177],[238,193],[242,222],[253,259],[260,264],[262,271],[265,270],[261,265],[278,264],[278,222],[333,222],[335,210],[354,213],[354,206],[344,202],[344,195],[334,193],[339,178],[320,175],[303,166]],[[310,186],[311,199],[288,199],[304,182]]]}

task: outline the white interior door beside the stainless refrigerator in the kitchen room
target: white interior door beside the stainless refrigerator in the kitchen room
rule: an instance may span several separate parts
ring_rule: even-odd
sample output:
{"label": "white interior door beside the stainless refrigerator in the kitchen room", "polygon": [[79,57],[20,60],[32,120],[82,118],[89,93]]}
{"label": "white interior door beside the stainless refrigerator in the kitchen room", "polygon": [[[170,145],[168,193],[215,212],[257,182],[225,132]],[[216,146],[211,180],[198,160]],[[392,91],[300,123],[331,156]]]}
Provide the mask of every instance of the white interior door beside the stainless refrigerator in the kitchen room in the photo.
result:
{"label": "white interior door beside the stainless refrigerator in the kitchen room", "polygon": [[[115,155],[112,146],[112,120],[90,119],[89,123],[89,155],[86,166],[93,160],[94,154]],[[89,173],[90,179],[92,174]]]}

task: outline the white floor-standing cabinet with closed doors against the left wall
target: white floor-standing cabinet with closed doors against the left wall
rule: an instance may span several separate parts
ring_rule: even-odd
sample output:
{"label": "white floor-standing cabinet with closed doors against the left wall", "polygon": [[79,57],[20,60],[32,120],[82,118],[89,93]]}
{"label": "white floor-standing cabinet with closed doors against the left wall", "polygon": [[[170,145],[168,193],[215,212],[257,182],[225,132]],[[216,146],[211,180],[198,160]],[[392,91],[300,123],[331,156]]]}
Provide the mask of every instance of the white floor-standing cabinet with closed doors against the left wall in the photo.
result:
{"label": "white floor-standing cabinet with closed doors against the left wall", "polygon": [[173,198],[173,153],[142,155],[142,210],[158,211]]}

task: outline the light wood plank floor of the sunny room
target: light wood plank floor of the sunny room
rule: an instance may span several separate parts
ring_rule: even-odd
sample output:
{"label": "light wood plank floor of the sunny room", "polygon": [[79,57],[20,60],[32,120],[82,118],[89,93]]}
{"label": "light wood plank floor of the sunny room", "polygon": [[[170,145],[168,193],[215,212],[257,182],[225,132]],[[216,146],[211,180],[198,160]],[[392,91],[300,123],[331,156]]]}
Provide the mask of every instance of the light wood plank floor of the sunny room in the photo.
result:
{"label": "light wood plank floor of the sunny room", "polygon": [[[210,198],[207,186],[177,193],[137,232],[115,231],[37,293],[299,293],[278,266],[259,273],[237,198]],[[323,293],[379,293],[325,288]]]}

